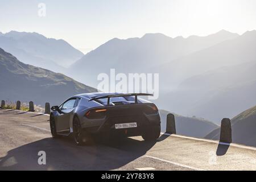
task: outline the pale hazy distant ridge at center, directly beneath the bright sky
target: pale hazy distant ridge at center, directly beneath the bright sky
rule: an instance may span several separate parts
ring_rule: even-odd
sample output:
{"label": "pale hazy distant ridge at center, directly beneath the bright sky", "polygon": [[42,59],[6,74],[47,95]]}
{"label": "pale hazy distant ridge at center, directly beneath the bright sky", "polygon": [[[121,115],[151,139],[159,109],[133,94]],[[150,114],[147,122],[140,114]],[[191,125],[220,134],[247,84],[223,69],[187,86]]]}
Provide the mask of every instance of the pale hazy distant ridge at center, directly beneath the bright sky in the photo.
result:
{"label": "pale hazy distant ridge at center, directly beneath the bright sky", "polygon": [[[109,73],[110,68],[122,73],[152,72],[152,67],[169,63],[201,49],[234,39],[238,35],[220,31],[209,36],[170,38],[163,34],[146,34],[142,38],[121,40],[114,38],[87,53],[74,63],[68,75],[90,85],[97,85],[99,73]],[[158,72],[160,73],[160,72]],[[162,74],[162,73],[161,73]]]}

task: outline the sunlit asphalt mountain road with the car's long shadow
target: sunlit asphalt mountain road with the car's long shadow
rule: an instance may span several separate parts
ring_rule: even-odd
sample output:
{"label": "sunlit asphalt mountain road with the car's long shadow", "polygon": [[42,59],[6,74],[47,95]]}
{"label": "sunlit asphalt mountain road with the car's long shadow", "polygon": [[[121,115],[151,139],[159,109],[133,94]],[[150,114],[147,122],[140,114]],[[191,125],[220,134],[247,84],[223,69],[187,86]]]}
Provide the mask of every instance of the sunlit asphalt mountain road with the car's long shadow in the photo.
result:
{"label": "sunlit asphalt mountain road with the car's long shadow", "polygon": [[[0,109],[0,170],[256,170],[256,148],[182,136],[141,137],[76,146],[52,139],[49,116]],[[39,165],[39,151],[46,164]]]}

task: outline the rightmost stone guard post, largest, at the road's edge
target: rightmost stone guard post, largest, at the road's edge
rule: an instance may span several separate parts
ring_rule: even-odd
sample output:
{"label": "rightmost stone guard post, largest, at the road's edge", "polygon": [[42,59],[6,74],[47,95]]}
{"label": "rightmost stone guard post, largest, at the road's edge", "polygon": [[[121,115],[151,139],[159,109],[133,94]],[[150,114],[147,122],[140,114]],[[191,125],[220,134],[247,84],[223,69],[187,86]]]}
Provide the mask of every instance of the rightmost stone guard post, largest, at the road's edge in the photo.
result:
{"label": "rightmost stone guard post, largest, at the road's edge", "polygon": [[232,143],[232,127],[229,118],[221,121],[220,142]]}

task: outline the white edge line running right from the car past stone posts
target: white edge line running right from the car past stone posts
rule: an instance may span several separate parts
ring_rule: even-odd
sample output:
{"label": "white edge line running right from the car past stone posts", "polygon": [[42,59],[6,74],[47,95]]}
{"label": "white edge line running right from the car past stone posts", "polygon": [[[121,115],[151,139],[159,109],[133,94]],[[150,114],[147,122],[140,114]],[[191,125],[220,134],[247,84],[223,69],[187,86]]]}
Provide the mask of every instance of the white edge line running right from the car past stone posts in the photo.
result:
{"label": "white edge line running right from the car past stone posts", "polygon": [[243,146],[242,144],[224,143],[224,142],[219,142],[219,141],[216,141],[216,140],[209,140],[209,139],[203,139],[203,138],[193,138],[193,137],[185,137],[185,136],[182,136],[182,135],[168,134],[168,133],[161,133],[161,134],[167,135],[167,136],[172,136],[172,137],[179,137],[179,138],[185,138],[185,139],[191,139],[191,140],[198,140],[198,141],[203,141],[203,142],[222,144],[222,145],[225,145],[225,146],[233,146],[233,147],[245,148],[245,149],[248,149],[248,150],[256,151],[256,147]]}

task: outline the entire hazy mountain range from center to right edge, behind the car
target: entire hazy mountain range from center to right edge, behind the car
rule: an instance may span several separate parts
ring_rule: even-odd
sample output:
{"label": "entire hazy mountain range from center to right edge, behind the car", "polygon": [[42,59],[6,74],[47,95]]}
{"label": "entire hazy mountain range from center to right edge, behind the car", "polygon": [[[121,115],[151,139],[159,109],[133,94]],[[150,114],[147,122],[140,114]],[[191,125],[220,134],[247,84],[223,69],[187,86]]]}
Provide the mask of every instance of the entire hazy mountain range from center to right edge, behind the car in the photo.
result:
{"label": "entire hazy mountain range from center to right edge, behind the car", "polygon": [[256,31],[225,30],[208,36],[114,38],[87,53],[67,71],[97,86],[99,73],[159,73],[161,109],[220,124],[256,104]]}

